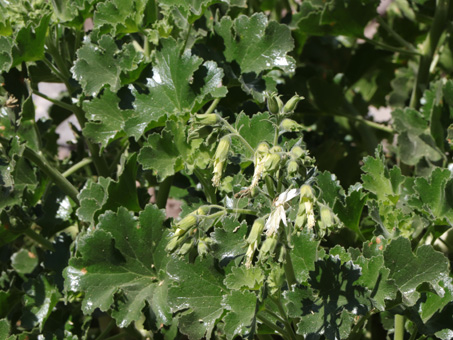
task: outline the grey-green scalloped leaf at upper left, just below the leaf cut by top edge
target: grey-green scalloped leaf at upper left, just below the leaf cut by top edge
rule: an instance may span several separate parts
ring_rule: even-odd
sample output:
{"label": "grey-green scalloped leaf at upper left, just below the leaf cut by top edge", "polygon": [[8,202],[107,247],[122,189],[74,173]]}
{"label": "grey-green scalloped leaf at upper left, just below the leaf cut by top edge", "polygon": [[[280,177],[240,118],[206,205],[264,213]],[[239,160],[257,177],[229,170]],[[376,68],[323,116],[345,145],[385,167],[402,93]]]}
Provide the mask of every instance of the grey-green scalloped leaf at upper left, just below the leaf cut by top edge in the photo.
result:
{"label": "grey-green scalloped leaf at upper left, just below the leaf cut by top edge", "polygon": [[111,36],[103,35],[97,45],[88,41],[79,48],[71,72],[83,92],[95,97],[106,85],[113,92],[118,91],[122,85],[121,72],[136,69],[140,58],[132,44],[119,50]]}

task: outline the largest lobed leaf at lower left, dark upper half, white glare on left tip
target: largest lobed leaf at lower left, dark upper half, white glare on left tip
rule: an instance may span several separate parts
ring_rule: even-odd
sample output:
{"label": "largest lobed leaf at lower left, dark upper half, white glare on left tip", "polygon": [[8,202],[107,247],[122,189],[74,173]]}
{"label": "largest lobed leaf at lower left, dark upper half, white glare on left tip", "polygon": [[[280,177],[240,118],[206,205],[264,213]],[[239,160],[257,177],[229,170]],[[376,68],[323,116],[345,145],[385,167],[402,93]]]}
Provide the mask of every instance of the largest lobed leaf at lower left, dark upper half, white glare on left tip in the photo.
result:
{"label": "largest lobed leaf at lower left, dark upper half, white glare on left tip", "polygon": [[[107,212],[99,224],[79,239],[78,256],[65,270],[65,287],[84,292],[82,310],[111,310],[118,326],[126,327],[141,316],[148,302],[156,315],[168,308],[162,305],[158,273],[153,268],[163,242],[165,215],[153,205],[146,206],[139,220],[121,207]],[[156,256],[158,255],[158,256]],[[157,295],[157,296],[156,296]]]}

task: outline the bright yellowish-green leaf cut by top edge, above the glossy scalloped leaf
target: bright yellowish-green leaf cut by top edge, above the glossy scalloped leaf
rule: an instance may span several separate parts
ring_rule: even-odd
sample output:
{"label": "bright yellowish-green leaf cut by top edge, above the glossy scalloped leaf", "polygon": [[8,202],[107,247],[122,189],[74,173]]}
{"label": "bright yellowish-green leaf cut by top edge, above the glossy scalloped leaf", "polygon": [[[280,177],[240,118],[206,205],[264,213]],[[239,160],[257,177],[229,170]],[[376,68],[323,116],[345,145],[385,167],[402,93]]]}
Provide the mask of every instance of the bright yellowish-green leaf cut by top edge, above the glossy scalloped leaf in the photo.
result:
{"label": "bright yellowish-green leaf cut by top edge, above the glossy scalloped leaf", "polygon": [[93,16],[95,28],[112,35],[135,33],[140,30],[144,17],[144,0],[108,0],[96,6]]}

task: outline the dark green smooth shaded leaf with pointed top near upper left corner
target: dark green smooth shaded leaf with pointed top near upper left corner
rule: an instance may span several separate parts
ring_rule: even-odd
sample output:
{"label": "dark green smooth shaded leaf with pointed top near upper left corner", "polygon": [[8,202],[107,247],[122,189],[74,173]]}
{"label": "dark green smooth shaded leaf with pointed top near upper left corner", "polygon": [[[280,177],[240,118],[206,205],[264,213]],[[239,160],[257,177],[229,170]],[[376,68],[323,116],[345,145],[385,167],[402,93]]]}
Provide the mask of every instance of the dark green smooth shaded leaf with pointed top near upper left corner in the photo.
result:
{"label": "dark green smooth shaded leaf with pointed top near upper left corner", "polygon": [[17,32],[12,51],[13,67],[24,61],[37,61],[44,58],[44,43],[49,21],[50,14],[46,14],[41,18],[37,27],[33,27],[34,25],[29,23]]}

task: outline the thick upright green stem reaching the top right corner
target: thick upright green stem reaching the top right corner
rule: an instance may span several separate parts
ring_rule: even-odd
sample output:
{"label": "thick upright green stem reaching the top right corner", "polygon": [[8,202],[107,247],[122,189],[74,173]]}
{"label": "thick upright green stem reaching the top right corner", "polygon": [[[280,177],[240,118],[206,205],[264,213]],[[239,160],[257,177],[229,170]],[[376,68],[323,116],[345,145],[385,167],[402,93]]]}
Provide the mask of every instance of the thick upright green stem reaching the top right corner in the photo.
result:
{"label": "thick upright green stem reaching the top right corner", "polygon": [[450,0],[437,0],[434,20],[431,25],[431,29],[423,43],[422,56],[420,57],[420,62],[418,65],[417,79],[412,90],[410,101],[410,107],[412,108],[418,108],[418,106],[420,105],[420,98],[423,95],[423,91],[428,88],[431,62],[433,61],[434,53],[436,52],[439,39],[446,28],[449,6]]}

